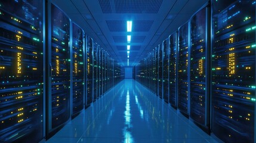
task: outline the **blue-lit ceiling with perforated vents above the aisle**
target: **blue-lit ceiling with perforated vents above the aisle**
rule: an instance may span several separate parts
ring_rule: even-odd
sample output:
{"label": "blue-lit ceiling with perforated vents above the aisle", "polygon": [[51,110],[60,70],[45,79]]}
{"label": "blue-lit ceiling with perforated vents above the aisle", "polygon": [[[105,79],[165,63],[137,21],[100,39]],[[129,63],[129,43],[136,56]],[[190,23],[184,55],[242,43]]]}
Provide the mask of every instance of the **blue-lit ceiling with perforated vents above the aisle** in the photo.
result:
{"label": "blue-lit ceiling with perforated vents above the aisle", "polygon": [[52,0],[109,55],[127,66],[127,20],[132,20],[129,66],[186,23],[208,0]]}

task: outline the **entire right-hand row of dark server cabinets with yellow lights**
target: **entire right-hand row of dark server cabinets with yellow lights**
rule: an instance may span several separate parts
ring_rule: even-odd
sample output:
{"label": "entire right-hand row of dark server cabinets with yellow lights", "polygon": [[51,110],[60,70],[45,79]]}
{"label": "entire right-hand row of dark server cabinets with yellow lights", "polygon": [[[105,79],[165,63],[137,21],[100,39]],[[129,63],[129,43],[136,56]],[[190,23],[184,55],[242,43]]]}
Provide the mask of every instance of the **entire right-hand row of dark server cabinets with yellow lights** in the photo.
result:
{"label": "entire right-hand row of dark server cabinets with yellow lights", "polygon": [[135,79],[224,142],[255,142],[255,1],[212,1],[135,66]]}

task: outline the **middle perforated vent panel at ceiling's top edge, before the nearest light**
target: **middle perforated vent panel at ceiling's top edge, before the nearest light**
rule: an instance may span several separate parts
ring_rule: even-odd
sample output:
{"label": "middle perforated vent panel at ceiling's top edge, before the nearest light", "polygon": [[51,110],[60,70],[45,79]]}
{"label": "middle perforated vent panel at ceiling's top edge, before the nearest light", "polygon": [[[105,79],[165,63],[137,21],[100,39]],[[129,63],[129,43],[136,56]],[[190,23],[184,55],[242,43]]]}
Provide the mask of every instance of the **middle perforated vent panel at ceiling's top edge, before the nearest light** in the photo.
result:
{"label": "middle perforated vent panel at ceiling's top edge, before the nearest light", "polygon": [[157,14],[162,0],[115,0],[116,13]]}

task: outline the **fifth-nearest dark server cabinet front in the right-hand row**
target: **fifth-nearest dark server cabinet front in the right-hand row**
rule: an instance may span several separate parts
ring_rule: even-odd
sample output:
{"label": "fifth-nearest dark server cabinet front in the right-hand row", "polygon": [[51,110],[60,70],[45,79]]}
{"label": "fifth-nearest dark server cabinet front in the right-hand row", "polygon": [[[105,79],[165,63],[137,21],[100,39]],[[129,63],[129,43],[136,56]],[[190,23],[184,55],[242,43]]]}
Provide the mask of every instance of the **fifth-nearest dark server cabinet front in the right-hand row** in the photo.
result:
{"label": "fifth-nearest dark server cabinet front in the right-hand row", "polygon": [[169,102],[169,41],[163,42],[163,97]]}

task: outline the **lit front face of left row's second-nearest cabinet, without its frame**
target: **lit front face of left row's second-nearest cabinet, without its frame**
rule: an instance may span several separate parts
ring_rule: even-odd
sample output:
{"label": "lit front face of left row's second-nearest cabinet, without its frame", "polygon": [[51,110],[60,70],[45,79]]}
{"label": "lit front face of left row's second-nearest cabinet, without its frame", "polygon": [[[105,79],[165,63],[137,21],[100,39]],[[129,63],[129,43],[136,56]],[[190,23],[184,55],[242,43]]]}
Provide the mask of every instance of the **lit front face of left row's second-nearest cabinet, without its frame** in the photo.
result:
{"label": "lit front face of left row's second-nearest cabinet, without its frame", "polygon": [[70,117],[70,20],[51,5],[51,128]]}

